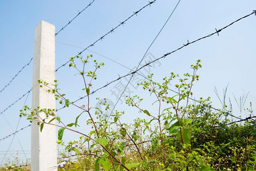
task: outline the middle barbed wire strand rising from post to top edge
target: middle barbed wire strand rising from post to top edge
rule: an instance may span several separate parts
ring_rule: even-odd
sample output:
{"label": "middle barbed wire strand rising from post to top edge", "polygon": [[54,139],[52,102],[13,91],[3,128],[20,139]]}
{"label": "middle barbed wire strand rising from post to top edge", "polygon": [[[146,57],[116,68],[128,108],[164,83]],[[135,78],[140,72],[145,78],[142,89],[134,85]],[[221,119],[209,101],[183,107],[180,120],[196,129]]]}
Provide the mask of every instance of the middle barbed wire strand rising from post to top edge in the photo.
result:
{"label": "middle barbed wire strand rising from post to top edge", "polygon": [[[94,46],[95,43],[97,43],[99,40],[102,40],[106,35],[110,34],[111,32],[114,32],[115,29],[117,29],[118,27],[120,27],[121,25],[123,26],[123,23],[125,23],[126,21],[128,21],[130,18],[132,18],[134,15],[137,15],[141,10],[145,9],[145,7],[150,6],[152,3],[154,3],[157,0],[151,1],[149,3],[147,3],[147,5],[143,6],[141,9],[139,9],[137,12],[133,13],[130,17],[128,17],[127,19],[125,19],[125,21],[120,22],[119,25],[117,25],[116,27],[112,28],[109,32],[107,32],[105,35],[101,36],[101,38],[99,38],[98,40],[96,40],[94,43],[90,44],[89,46],[87,46],[85,49],[83,49],[81,52],[79,52],[77,55],[81,55],[84,51],[87,50],[87,48]],[[64,66],[66,66],[67,63],[69,63],[70,61],[67,61],[66,63],[62,64],[61,66],[59,66],[55,72],[57,72],[59,70],[59,68],[62,68]]]}

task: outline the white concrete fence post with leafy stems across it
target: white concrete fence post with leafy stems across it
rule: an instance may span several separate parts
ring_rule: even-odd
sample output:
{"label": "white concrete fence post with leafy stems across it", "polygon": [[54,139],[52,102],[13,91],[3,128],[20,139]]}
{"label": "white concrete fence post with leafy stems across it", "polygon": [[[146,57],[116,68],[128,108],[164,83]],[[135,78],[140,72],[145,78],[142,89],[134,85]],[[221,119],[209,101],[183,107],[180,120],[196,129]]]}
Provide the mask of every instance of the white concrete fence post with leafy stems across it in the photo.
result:
{"label": "white concrete fence post with leafy stems across it", "polygon": [[[34,59],[33,59],[33,91],[32,109],[55,109],[55,97],[47,92],[47,88],[40,88],[38,79],[49,85],[55,79],[55,27],[41,21],[35,28]],[[41,113],[45,118],[45,115]],[[55,123],[54,121],[52,123]],[[43,131],[36,121],[31,125],[31,170],[57,170],[56,127],[45,124]]]}

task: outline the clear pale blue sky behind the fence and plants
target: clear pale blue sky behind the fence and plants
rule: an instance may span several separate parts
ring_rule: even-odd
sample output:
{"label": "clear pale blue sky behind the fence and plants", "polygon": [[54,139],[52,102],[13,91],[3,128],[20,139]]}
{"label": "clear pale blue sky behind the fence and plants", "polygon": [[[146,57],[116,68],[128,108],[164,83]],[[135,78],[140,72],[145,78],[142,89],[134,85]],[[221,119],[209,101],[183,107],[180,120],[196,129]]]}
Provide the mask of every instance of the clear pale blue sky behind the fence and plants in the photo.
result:
{"label": "clear pale blue sky behind the fence and plants", "polygon": [[[104,62],[103,67],[98,72],[97,82],[93,88],[104,86],[107,82],[117,79],[118,75],[125,75],[129,70],[126,67],[137,67],[143,54],[153,41],[159,30],[166,22],[166,19],[173,11],[178,1],[157,0],[151,7],[146,7],[137,16],[129,19],[125,25],[118,27],[113,33],[107,35],[105,39],[97,42],[83,56],[93,54],[99,62]],[[1,83],[3,88],[17,72],[29,62],[34,50],[34,29],[43,20],[55,25],[56,32],[65,26],[69,20],[86,7],[89,1],[1,1],[0,5],[0,56],[1,56]],[[148,1],[100,1],[95,2],[80,14],[69,26],[59,32],[56,36],[56,68],[67,62],[71,56],[77,55],[82,48],[89,46],[111,28],[119,25],[119,22],[130,17],[133,12],[141,9]],[[173,51],[183,44],[201,38],[218,30],[229,23],[250,14],[255,9],[255,1],[182,1],[179,3],[169,22],[163,28],[161,34],[151,46],[146,60],[159,58],[167,52]],[[234,25],[219,32],[219,36],[213,35],[210,38],[191,44],[182,50],[161,59],[150,68],[150,72],[155,74],[156,80],[161,80],[170,72],[183,74],[190,72],[190,64],[201,59],[203,68],[198,71],[201,78],[194,86],[194,97],[211,96],[214,107],[221,107],[214,87],[222,96],[223,88],[228,84],[227,97],[233,106],[233,115],[240,116],[239,109],[234,96],[239,100],[239,96],[249,92],[245,107],[249,107],[250,101],[255,107],[255,16],[251,15]],[[66,44],[70,44],[68,46]],[[115,62],[103,58],[101,55],[111,58]],[[145,63],[145,62],[144,62]],[[0,93],[2,112],[11,103],[25,94],[32,85],[32,62],[13,80],[10,86]],[[56,72],[56,78],[60,84],[61,91],[67,94],[71,100],[76,100],[83,96],[81,78],[74,76],[76,73],[68,66],[62,67]],[[144,70],[143,74],[147,75]],[[139,80],[139,79],[138,79]],[[133,84],[136,82],[132,82]],[[113,91],[117,92],[117,83],[126,84],[127,80],[122,79],[95,93],[91,99],[95,105],[96,97],[107,97],[113,103],[116,97]],[[141,88],[129,86],[130,95],[146,95]],[[112,90],[112,92],[111,92]],[[127,92],[126,92],[127,93]],[[0,115],[0,139],[10,135],[15,129],[21,129],[29,125],[26,119],[19,120],[19,109],[25,103],[26,96],[11,108]],[[121,100],[125,100],[121,98]],[[119,102],[117,109],[125,110],[127,115],[124,120],[132,121],[138,116],[136,111],[126,107],[125,103]],[[26,100],[26,104],[31,104],[31,93]],[[78,102],[79,105],[83,101]],[[57,105],[57,108],[59,106]],[[149,107],[153,112],[154,109]],[[63,109],[58,112],[64,121],[73,120],[79,111],[74,108]],[[242,117],[246,117],[242,113]],[[82,119],[86,119],[83,116]],[[81,120],[81,125],[84,122]],[[18,126],[17,126],[18,125]],[[87,128],[79,128],[87,132]],[[68,134],[68,133],[67,133]],[[65,136],[65,135],[64,135]],[[17,138],[18,137],[18,138]],[[19,157],[25,158],[21,154],[21,146],[24,150],[30,150],[30,127],[19,132],[17,137],[13,136],[0,141],[0,160],[10,146],[10,151],[15,153],[18,150]],[[75,139],[77,135],[70,134],[65,138]],[[11,140],[13,139],[13,143]],[[19,140],[19,141],[18,141]],[[20,145],[20,144],[21,145]],[[11,145],[10,145],[11,144]],[[29,151],[26,157],[29,157]],[[6,157],[10,157],[7,155]],[[5,159],[4,159],[5,160]]]}

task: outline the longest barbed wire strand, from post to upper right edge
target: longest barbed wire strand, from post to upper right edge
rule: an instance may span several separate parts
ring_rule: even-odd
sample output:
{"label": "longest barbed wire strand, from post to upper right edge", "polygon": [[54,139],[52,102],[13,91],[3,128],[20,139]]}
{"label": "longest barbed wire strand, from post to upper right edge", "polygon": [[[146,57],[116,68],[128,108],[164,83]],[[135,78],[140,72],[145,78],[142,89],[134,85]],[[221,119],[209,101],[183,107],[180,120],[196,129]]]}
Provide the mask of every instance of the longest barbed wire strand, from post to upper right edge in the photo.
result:
{"label": "longest barbed wire strand, from post to upper right edge", "polygon": [[[137,73],[139,70],[141,70],[142,68],[144,68],[144,67],[146,67],[146,66],[149,66],[151,63],[154,63],[154,62],[156,62],[157,60],[160,60],[160,59],[162,59],[162,58],[165,58],[166,56],[169,56],[170,54],[173,54],[174,52],[176,52],[176,51],[178,51],[178,50],[181,50],[182,48],[184,48],[184,47],[186,47],[186,46],[189,46],[190,44],[193,44],[193,43],[195,43],[195,42],[198,42],[199,40],[203,40],[203,39],[209,38],[210,36],[213,36],[213,35],[217,34],[218,32],[221,32],[222,30],[226,29],[227,27],[230,27],[230,26],[233,25],[234,23],[236,23],[236,22],[238,22],[238,21],[241,21],[241,19],[247,18],[247,17],[249,17],[250,15],[253,15],[253,14],[256,15],[256,10],[254,10],[253,13],[250,13],[250,14],[248,14],[248,15],[245,15],[245,16],[243,16],[243,17],[237,19],[236,21],[231,22],[229,25],[227,25],[227,26],[225,26],[225,27],[222,27],[221,29],[219,29],[219,30],[217,30],[217,31],[215,31],[215,32],[213,32],[213,33],[211,33],[211,34],[209,34],[209,35],[206,35],[206,36],[203,36],[203,37],[198,38],[198,39],[196,39],[196,40],[193,40],[192,42],[187,42],[186,44],[183,44],[183,46],[177,48],[176,50],[173,50],[173,51],[171,51],[171,52],[167,52],[166,54],[162,55],[161,57],[159,57],[159,58],[157,58],[157,59],[155,59],[155,60],[152,60],[152,61],[149,62],[149,63],[146,63],[145,65],[141,66],[140,68],[138,68],[137,70],[135,70],[135,71],[133,71],[133,72],[130,72],[129,74],[126,74],[126,75],[123,75],[123,76],[119,76],[119,78],[117,78],[117,79],[115,79],[115,80],[113,80],[113,81],[111,81],[111,82],[105,84],[105,85],[102,86],[102,87],[99,87],[99,88],[95,89],[94,91],[92,91],[92,92],[90,93],[90,95],[93,94],[93,93],[95,93],[95,92],[97,92],[97,91],[99,91],[99,90],[102,89],[102,88],[105,88],[105,87],[109,86],[110,84],[112,84],[112,83],[114,83],[114,82],[117,82],[118,80],[120,80],[120,79],[122,79],[122,78],[125,78],[126,76],[133,75],[133,74]],[[82,99],[84,99],[85,97],[87,97],[87,95],[86,95],[86,96],[83,96],[83,97],[79,97],[79,99],[77,99],[77,100],[75,100],[75,101],[71,101],[70,103],[71,103],[71,104],[76,103],[77,101],[82,100]],[[65,108],[65,106],[63,106],[62,108],[57,109],[57,111],[59,111],[59,110],[61,110],[61,109],[63,109],[63,108]]]}

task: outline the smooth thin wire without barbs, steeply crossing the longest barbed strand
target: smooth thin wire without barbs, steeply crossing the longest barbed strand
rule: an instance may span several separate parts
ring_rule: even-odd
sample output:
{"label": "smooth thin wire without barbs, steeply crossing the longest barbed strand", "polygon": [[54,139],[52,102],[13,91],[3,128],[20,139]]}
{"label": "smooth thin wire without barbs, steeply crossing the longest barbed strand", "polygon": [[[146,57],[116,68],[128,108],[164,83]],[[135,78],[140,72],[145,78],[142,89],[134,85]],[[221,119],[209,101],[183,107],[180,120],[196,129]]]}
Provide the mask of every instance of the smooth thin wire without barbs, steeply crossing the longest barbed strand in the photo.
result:
{"label": "smooth thin wire without barbs, steeply crossing the longest barbed strand", "polygon": [[[178,1],[177,5],[174,7],[173,11],[171,11],[171,14],[170,14],[169,17],[167,18],[165,24],[162,26],[162,28],[161,28],[160,31],[158,32],[157,36],[155,36],[154,40],[151,42],[150,46],[147,48],[145,54],[143,55],[141,61],[140,61],[139,64],[138,64],[136,70],[138,70],[139,66],[140,66],[141,63],[142,63],[142,60],[145,58],[145,56],[146,56],[147,52],[149,51],[150,47],[153,45],[153,43],[155,42],[155,40],[158,38],[159,34],[162,32],[163,28],[166,26],[167,22],[169,21],[169,19],[170,19],[171,16],[173,15],[174,11],[176,10],[176,8],[177,8],[178,5],[179,5],[179,2],[181,2],[181,0]],[[135,72],[135,73],[136,73],[136,72]],[[135,74],[135,73],[134,73],[134,74]],[[125,88],[123,89],[123,92],[121,93],[121,95],[119,96],[119,98],[118,98],[117,102],[115,103],[113,109],[111,110],[111,113],[110,113],[109,117],[107,118],[107,121],[110,119],[110,116],[111,116],[111,114],[113,113],[115,107],[117,106],[119,100],[121,99],[123,93],[125,93],[125,90],[126,90],[126,88],[129,86],[129,84],[130,84],[130,82],[131,82],[131,79],[133,79],[134,74],[131,75],[131,77],[130,77],[130,79],[129,79],[129,82],[126,84]]]}

